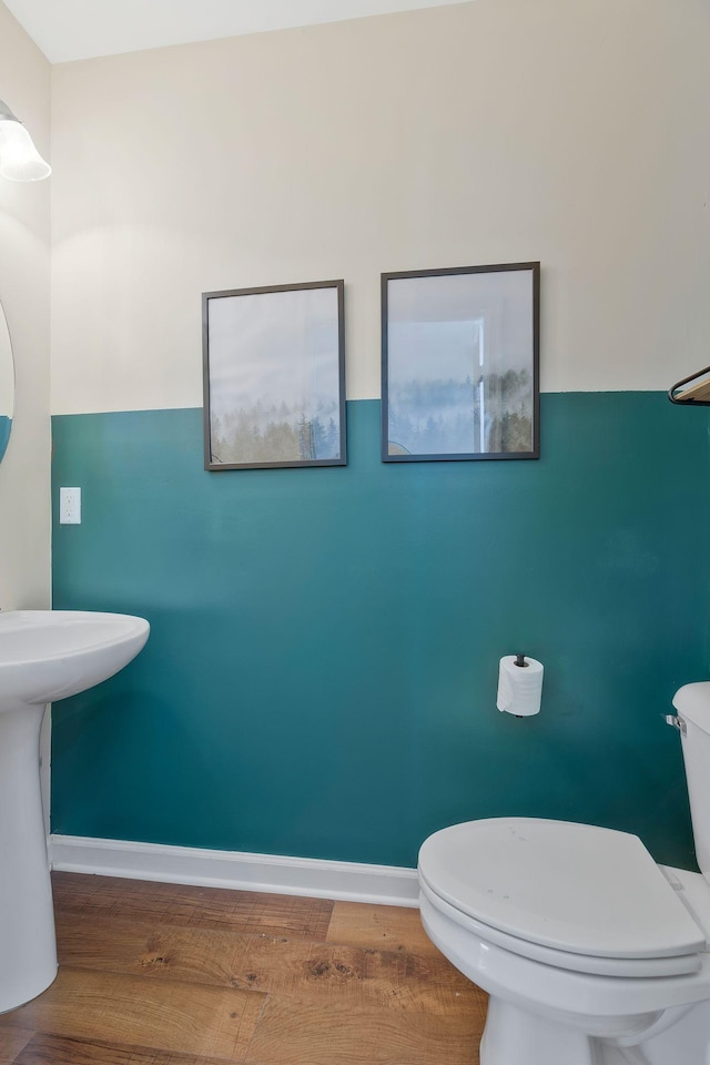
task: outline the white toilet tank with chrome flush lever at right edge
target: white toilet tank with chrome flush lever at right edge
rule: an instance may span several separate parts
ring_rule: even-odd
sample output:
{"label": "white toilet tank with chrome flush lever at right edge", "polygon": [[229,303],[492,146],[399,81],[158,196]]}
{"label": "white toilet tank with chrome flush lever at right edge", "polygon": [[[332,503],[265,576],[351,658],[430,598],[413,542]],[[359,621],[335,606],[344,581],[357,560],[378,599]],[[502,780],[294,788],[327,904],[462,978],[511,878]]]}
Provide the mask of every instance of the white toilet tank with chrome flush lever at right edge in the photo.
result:
{"label": "white toilet tank with chrome flush lever at right edge", "polygon": [[688,781],[700,872],[710,881],[710,681],[686,684],[673,697]]}

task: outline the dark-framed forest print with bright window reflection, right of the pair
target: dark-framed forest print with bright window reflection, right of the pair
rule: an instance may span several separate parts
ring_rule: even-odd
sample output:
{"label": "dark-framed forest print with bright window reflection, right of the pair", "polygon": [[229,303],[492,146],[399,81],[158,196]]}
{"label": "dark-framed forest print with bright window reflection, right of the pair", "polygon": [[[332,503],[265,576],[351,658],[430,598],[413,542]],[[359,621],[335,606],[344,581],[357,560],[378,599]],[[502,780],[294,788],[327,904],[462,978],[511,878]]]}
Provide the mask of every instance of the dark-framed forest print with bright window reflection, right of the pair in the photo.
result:
{"label": "dark-framed forest print with bright window reflection, right of the pair", "polygon": [[383,460],[537,458],[539,263],[382,283]]}

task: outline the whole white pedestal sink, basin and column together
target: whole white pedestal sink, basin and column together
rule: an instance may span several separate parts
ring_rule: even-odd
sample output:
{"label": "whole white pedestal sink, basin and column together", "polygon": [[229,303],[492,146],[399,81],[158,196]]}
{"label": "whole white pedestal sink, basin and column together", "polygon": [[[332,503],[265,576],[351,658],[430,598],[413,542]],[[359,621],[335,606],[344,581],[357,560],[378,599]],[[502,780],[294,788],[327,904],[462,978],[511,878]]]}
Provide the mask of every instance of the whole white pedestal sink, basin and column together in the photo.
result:
{"label": "whole white pedestal sink, basin and column together", "polygon": [[45,703],[118,673],[149,632],[143,618],[122,613],[0,612],[0,1013],[57,975],[39,772]]}

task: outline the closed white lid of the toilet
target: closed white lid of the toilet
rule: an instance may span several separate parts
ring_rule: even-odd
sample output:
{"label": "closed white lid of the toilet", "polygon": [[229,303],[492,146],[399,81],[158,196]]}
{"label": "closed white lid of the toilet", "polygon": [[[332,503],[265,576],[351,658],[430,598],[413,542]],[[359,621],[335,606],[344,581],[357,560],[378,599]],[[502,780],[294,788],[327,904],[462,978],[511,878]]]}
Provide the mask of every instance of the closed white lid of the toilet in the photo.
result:
{"label": "closed white lid of the toilet", "polygon": [[435,832],[419,876],[509,935],[599,957],[694,954],[706,939],[636,835],[567,821],[496,818]]}

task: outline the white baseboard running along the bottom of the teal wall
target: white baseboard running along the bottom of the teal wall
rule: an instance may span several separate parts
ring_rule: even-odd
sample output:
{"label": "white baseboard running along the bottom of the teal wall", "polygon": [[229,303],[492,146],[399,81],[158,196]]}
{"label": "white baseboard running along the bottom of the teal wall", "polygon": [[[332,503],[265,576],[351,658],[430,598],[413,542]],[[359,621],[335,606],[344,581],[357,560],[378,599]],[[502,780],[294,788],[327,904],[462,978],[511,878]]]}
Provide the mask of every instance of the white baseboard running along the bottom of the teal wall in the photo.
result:
{"label": "white baseboard running along the bottom of the teal wall", "polygon": [[79,835],[50,835],[49,856],[52,869],[73,873],[343,899],[387,906],[418,905],[416,870],[397,865],[209,851],[196,846]]}

